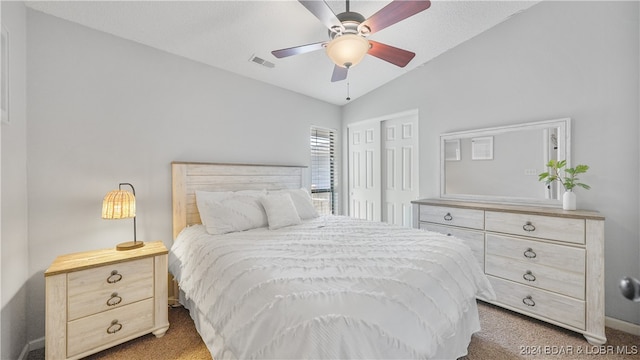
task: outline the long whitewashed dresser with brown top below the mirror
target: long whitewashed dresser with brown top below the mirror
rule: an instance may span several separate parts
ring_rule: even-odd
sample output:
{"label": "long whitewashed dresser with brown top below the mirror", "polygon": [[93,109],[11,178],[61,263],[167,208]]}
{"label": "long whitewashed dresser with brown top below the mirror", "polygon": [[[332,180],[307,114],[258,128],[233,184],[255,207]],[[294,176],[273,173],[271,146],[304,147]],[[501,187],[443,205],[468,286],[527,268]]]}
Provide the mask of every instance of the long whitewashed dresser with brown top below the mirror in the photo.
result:
{"label": "long whitewashed dresser with brown top below the mirror", "polygon": [[495,300],[479,300],[606,342],[604,217],[593,211],[425,199],[414,227],[469,245]]}

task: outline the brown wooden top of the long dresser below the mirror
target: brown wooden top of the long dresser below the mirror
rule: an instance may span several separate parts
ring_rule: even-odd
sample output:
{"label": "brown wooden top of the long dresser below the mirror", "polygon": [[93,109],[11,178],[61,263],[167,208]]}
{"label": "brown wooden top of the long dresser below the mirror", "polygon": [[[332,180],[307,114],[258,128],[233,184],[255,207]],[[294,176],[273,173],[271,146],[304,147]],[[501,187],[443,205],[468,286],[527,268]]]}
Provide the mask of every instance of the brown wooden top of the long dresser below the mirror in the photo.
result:
{"label": "brown wooden top of the long dresser below the mirror", "polygon": [[498,212],[526,213],[532,215],[556,216],[574,219],[604,220],[604,216],[602,216],[599,212],[591,210],[563,210],[560,208],[544,206],[507,205],[498,203],[483,203],[446,199],[421,199],[414,200],[411,203],[419,205],[449,206]]}

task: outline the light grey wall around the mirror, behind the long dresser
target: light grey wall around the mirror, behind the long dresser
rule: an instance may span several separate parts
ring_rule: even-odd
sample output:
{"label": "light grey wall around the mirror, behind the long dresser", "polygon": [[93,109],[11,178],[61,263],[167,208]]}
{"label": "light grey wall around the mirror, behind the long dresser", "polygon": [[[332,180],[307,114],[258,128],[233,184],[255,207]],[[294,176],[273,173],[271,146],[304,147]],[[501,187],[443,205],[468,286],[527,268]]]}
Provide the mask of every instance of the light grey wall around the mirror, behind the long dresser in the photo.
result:
{"label": "light grey wall around the mirror, behind the long dresser", "polygon": [[573,163],[591,166],[578,206],[607,219],[606,315],[640,324],[617,288],[640,275],[638,14],[638,2],[542,2],[352,101],[343,129],[417,108],[420,192],[437,197],[439,134],[571,117]]}

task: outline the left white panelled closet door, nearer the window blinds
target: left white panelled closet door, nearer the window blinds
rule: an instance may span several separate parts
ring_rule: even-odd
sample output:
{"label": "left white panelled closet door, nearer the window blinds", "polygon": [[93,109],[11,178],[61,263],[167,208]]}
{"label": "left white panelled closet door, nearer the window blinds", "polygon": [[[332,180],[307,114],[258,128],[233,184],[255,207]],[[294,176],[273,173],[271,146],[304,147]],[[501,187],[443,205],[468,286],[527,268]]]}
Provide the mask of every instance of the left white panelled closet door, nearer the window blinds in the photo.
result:
{"label": "left white panelled closet door, nearer the window blinds", "polygon": [[380,122],[351,125],[348,131],[349,216],[380,221]]}

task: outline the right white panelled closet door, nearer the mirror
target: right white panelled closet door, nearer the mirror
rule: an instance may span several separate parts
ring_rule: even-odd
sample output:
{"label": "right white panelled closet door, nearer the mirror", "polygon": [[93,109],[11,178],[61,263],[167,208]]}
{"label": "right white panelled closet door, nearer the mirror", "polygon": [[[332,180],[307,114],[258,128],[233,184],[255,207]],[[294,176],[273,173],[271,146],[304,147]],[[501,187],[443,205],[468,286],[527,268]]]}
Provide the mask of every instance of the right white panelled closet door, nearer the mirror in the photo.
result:
{"label": "right white panelled closet door, nearer the mirror", "polygon": [[382,122],[382,221],[412,226],[418,192],[418,115]]}

